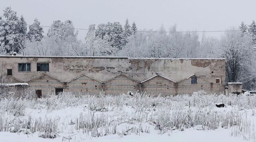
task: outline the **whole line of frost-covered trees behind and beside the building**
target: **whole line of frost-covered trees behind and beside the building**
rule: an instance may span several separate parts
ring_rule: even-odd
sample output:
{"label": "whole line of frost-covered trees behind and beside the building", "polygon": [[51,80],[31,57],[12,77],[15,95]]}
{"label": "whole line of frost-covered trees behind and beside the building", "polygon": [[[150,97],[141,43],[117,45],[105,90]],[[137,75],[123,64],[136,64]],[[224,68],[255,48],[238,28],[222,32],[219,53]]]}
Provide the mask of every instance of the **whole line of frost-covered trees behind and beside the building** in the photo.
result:
{"label": "whole line of frost-covered trees behind and beside the building", "polygon": [[38,19],[32,25],[11,7],[0,16],[0,54],[34,56],[128,56],[134,58],[226,58],[226,82],[243,82],[243,88],[256,90],[256,23],[224,32],[221,37],[201,37],[197,32],[180,33],[177,26],[137,31],[135,22],[91,24],[83,40],[77,38],[71,20],[54,20],[44,35]]}

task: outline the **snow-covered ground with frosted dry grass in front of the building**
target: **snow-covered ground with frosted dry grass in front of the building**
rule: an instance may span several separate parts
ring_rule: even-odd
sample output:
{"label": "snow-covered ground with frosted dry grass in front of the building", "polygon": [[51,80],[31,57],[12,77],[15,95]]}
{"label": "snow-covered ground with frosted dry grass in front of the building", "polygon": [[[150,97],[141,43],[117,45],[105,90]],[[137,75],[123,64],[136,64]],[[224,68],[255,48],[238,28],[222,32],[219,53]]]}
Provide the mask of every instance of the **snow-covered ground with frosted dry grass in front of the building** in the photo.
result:
{"label": "snow-covered ground with frosted dry grass in front of the building", "polygon": [[[216,107],[222,103],[224,108]],[[256,96],[203,92],[2,97],[0,141],[254,142],[255,108]],[[46,134],[54,138],[42,138]]]}

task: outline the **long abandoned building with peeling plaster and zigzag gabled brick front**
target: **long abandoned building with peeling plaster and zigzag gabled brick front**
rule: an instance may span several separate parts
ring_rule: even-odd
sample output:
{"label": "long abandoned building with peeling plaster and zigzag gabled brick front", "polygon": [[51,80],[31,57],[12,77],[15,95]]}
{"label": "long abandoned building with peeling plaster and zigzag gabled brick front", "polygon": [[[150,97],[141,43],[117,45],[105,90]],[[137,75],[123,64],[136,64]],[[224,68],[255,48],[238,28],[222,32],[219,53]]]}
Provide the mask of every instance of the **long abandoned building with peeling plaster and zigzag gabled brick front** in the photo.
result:
{"label": "long abandoned building with peeling plaster and zigzag gabled brick front", "polygon": [[27,83],[38,96],[58,92],[152,95],[224,93],[225,59],[0,56],[6,83]]}

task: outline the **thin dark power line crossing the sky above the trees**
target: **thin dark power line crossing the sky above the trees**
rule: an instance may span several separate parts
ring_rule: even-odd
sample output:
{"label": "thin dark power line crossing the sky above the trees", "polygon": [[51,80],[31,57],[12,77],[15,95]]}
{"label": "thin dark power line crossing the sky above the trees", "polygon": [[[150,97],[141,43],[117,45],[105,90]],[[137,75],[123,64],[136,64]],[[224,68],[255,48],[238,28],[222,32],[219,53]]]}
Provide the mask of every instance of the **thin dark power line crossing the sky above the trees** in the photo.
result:
{"label": "thin dark power line crossing the sky above the trees", "polygon": [[[28,25],[28,24],[27,24]],[[29,25],[28,25],[29,26]],[[51,28],[51,26],[40,26],[45,28]],[[65,27],[55,27],[55,28],[64,28],[64,29],[73,29],[73,30],[89,30],[86,28],[65,28]],[[98,29],[95,29],[98,30]],[[160,33],[187,33],[187,32],[239,32],[242,30],[210,30],[210,31],[136,31],[136,32],[160,32]]]}

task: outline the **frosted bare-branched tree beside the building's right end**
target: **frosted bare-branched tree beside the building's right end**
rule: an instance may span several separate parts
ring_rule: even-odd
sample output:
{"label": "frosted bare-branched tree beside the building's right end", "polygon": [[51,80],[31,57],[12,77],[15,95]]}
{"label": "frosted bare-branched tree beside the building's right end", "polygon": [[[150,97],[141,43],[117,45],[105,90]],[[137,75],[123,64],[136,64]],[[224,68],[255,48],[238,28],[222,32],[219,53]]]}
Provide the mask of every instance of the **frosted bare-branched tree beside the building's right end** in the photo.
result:
{"label": "frosted bare-branched tree beside the building's right end", "polygon": [[[235,30],[232,28],[231,30]],[[225,32],[221,39],[223,57],[226,58],[227,81],[238,82],[252,57],[250,37],[240,36],[240,32]]]}

